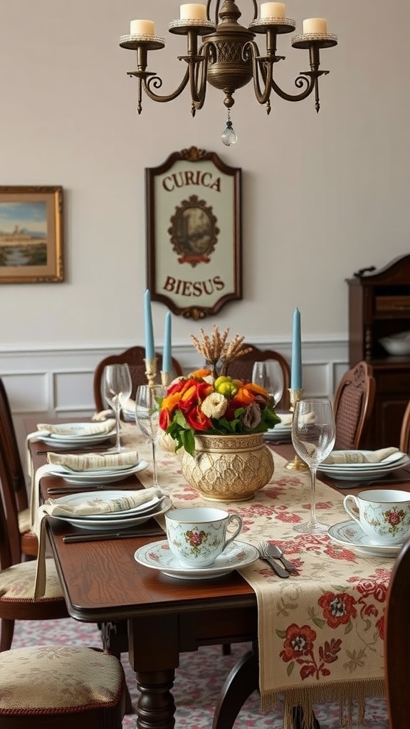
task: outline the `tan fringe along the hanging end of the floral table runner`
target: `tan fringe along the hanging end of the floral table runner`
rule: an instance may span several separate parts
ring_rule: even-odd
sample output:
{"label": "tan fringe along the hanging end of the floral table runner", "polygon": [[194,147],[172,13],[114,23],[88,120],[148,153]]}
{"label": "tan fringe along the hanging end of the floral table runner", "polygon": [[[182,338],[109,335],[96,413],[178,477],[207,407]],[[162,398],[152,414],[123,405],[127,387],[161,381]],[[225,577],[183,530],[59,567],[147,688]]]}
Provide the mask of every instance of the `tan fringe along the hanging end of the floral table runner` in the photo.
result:
{"label": "tan fringe along the hanging end of the floral table runner", "polygon": [[366,698],[383,697],[384,695],[383,679],[335,681],[322,686],[301,686],[264,693],[260,696],[260,710],[266,714],[279,702],[279,698],[283,698],[283,729],[293,729],[292,709],[294,706],[300,706],[303,710],[305,728],[314,729],[312,722],[314,704],[339,701],[341,726],[345,729],[353,729],[353,709],[357,707],[356,725],[359,726],[364,721]]}

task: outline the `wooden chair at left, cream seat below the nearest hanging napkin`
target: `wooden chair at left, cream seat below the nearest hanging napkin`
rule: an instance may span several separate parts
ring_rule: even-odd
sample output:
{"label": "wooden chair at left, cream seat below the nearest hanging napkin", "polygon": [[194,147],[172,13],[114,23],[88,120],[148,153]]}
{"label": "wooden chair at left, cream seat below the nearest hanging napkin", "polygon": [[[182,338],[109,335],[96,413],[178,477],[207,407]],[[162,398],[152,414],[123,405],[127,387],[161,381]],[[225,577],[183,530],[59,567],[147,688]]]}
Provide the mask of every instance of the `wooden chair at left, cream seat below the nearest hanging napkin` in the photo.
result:
{"label": "wooden chair at left, cream seat below the nearest hanging napkin", "polygon": [[[9,478],[0,440],[0,483],[3,493],[12,491]],[[15,620],[53,620],[69,616],[53,558],[46,559],[45,596],[36,601],[33,599],[37,561],[20,561],[20,555],[12,550],[12,545],[18,540],[18,526],[15,521],[8,521],[3,499],[0,498],[0,654],[12,646]]]}

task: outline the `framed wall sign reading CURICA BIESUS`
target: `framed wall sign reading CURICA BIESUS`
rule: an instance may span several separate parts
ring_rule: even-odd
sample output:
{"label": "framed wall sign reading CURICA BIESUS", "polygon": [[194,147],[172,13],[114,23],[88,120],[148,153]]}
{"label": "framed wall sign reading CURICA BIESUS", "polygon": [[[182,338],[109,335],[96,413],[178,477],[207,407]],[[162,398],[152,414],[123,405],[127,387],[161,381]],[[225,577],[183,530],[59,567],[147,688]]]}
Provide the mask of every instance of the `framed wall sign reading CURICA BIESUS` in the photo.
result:
{"label": "framed wall sign reading CURICA BIESUS", "polygon": [[240,168],[190,147],[145,174],[152,300],[203,319],[241,299]]}

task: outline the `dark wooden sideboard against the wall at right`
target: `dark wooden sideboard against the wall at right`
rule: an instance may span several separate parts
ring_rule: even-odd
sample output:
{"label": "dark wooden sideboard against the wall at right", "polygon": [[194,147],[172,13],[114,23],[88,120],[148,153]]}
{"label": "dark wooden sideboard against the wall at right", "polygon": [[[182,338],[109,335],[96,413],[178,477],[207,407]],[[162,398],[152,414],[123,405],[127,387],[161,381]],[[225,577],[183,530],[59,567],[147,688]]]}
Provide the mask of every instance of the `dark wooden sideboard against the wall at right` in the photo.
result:
{"label": "dark wooden sideboard against the wall at right", "polygon": [[410,400],[410,355],[392,356],[380,340],[410,331],[410,254],[384,268],[357,271],[349,286],[349,366],[364,359],[376,379],[368,448],[398,445]]}

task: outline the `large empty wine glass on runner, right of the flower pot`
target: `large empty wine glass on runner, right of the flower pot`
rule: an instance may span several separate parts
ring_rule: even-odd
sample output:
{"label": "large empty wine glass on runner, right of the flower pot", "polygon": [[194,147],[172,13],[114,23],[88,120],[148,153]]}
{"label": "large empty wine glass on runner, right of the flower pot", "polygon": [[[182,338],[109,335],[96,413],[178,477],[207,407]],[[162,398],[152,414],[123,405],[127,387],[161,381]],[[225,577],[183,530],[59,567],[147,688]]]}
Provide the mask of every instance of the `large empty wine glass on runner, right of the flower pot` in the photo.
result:
{"label": "large empty wine glass on runner, right of the flower pot", "polygon": [[309,466],[311,475],[310,519],[293,527],[302,534],[322,534],[329,528],[327,524],[317,521],[314,489],[317,467],[332,450],[335,434],[335,417],[329,399],[306,399],[296,402],[292,422],[293,448]]}

